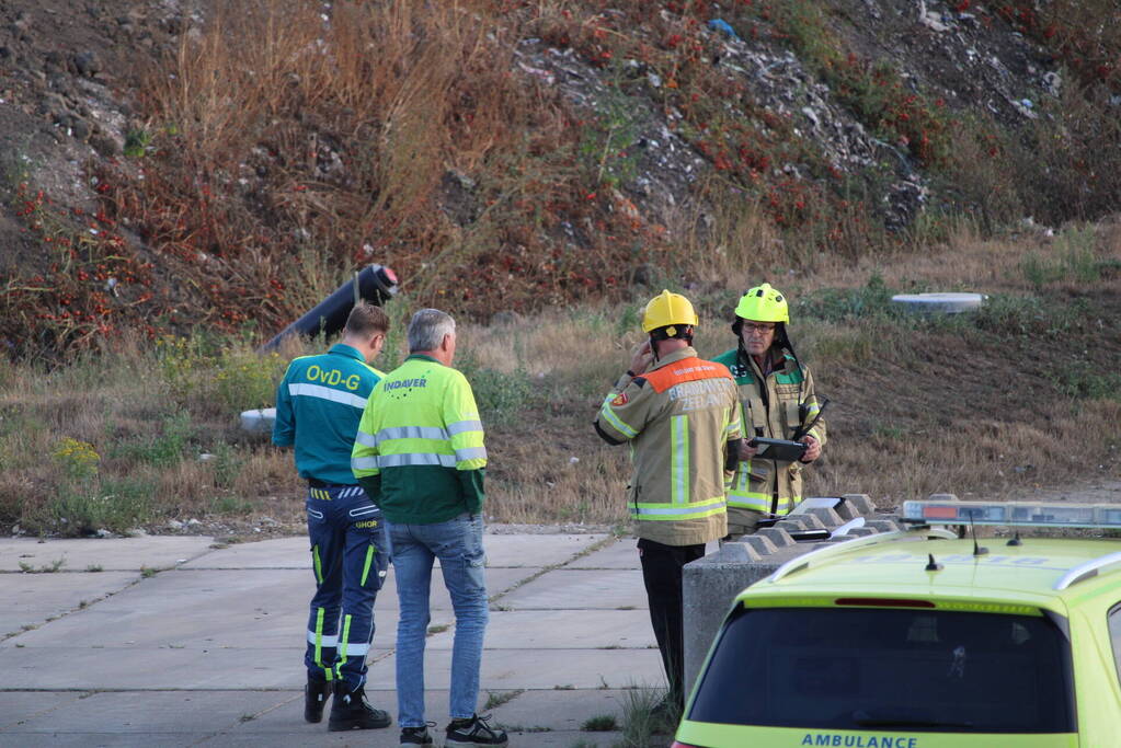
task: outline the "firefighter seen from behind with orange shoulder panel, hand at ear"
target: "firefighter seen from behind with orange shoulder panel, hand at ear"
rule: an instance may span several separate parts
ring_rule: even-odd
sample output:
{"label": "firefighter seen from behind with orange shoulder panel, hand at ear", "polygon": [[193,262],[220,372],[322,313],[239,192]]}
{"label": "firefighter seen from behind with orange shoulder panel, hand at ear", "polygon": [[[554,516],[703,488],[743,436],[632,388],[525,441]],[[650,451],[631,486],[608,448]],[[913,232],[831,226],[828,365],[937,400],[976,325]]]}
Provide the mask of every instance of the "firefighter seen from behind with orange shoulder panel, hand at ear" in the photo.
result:
{"label": "firefighter seen from behind with orange shoulder panel, hand at ear", "polygon": [[631,367],[603,401],[595,430],[608,443],[630,442],[634,474],[628,505],[642,580],[669,682],[661,710],[683,705],[682,568],[726,532],[725,470],[739,455],[741,423],[728,368],[697,357],[696,312],[663,291],[646,307]]}

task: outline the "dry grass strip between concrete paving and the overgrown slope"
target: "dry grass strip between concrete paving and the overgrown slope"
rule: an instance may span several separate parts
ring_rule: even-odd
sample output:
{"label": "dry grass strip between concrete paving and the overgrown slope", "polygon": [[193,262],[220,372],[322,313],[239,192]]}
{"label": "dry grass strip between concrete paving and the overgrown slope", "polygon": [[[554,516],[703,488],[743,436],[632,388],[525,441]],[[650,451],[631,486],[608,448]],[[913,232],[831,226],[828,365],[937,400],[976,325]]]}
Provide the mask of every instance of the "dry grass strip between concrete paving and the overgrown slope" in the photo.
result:
{"label": "dry grass strip between concrete paving and the overgrown slope", "polygon": [[[834,402],[807,493],[868,493],[890,506],[934,492],[1013,496],[1118,479],[1119,236],[1114,224],[999,241],[963,228],[918,255],[767,279],[794,299],[795,343]],[[986,311],[956,319],[901,316],[887,302],[893,290],[945,289],[995,296]],[[702,355],[732,345],[723,320],[739,292],[687,291],[702,308]],[[457,363],[488,427],[491,521],[627,521],[627,450],[602,443],[591,421],[641,340],[651,294],[461,325]],[[390,305],[395,340],[381,368],[399,363],[415,306],[407,296]],[[241,434],[235,415],[260,404],[254,387],[271,392],[291,356],[321,348],[289,340],[281,355],[258,358],[239,340],[130,343],[50,372],[4,364],[0,522],[80,534],[269,516],[298,532],[290,452]],[[223,381],[242,384],[223,390]],[[57,455],[67,438],[87,442],[95,469]]]}

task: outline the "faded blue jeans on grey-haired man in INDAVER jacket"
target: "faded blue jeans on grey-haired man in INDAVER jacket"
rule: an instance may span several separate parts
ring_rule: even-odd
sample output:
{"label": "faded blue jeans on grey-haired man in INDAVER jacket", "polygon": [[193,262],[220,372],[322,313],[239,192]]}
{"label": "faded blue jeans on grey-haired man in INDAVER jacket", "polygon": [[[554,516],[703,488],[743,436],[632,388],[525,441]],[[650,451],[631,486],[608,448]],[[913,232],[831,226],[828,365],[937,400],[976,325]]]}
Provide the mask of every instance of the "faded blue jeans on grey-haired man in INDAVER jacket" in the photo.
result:
{"label": "faded blue jeans on grey-haired man in INDAVER jacket", "polygon": [[483,579],[483,518],[461,514],[430,525],[389,523],[393,576],[401,618],[397,625],[397,722],[424,727],[424,645],[428,633],[428,587],[439,559],[455,609],[448,713],[470,718],[479,702],[479,667],[487,630]]}

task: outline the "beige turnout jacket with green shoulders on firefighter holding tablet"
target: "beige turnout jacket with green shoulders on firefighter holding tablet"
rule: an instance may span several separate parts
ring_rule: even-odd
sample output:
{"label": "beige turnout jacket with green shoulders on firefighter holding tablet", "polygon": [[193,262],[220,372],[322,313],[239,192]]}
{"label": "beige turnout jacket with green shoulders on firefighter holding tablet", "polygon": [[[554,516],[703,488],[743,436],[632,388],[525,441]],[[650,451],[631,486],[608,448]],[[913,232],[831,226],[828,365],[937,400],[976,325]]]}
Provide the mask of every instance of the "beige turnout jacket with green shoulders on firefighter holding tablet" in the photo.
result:
{"label": "beige turnout jacket with green shoulders on firefighter holding tablet", "polygon": [[[775,370],[763,376],[750,356],[738,358],[733,348],[716,356],[735,377],[743,406],[743,438],[790,439],[796,429],[809,423],[821,408],[814,393],[814,377],[805,366],[785,354]],[[818,419],[808,436],[825,446],[825,420]],[[735,522],[739,511],[782,515],[802,501],[802,462],[752,458],[740,462],[728,492],[728,511]]]}

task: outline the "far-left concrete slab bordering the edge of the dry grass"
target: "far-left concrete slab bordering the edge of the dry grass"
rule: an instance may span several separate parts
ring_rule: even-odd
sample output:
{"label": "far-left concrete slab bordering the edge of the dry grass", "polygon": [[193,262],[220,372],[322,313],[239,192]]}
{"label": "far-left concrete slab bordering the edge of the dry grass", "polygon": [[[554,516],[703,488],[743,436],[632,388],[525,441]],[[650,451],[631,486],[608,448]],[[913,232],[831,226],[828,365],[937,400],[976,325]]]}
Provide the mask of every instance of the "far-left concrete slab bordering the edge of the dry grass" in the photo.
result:
{"label": "far-left concrete slab bordering the edge of the dry grass", "polygon": [[104,571],[166,569],[189,562],[205,553],[213,537],[203,535],[159,535],[152,537],[73,537],[46,540],[34,537],[0,539],[0,571],[19,571],[20,562],[40,569],[62,559],[63,571]]}

